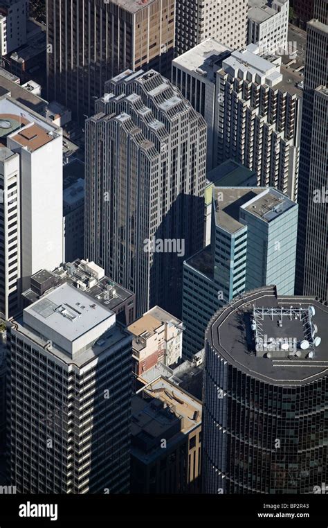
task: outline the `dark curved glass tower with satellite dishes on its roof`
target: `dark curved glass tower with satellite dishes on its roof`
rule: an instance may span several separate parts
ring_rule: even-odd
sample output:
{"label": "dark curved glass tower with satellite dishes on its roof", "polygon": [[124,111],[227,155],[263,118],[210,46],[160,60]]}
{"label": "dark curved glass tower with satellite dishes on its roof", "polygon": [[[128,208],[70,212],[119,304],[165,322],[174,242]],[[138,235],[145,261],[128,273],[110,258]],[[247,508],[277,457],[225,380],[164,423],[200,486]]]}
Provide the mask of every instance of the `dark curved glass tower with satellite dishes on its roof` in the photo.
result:
{"label": "dark curved glass tower with satellite dishes on its roof", "polygon": [[314,493],[327,482],[327,322],[327,306],[275,286],[212,317],[203,493]]}

